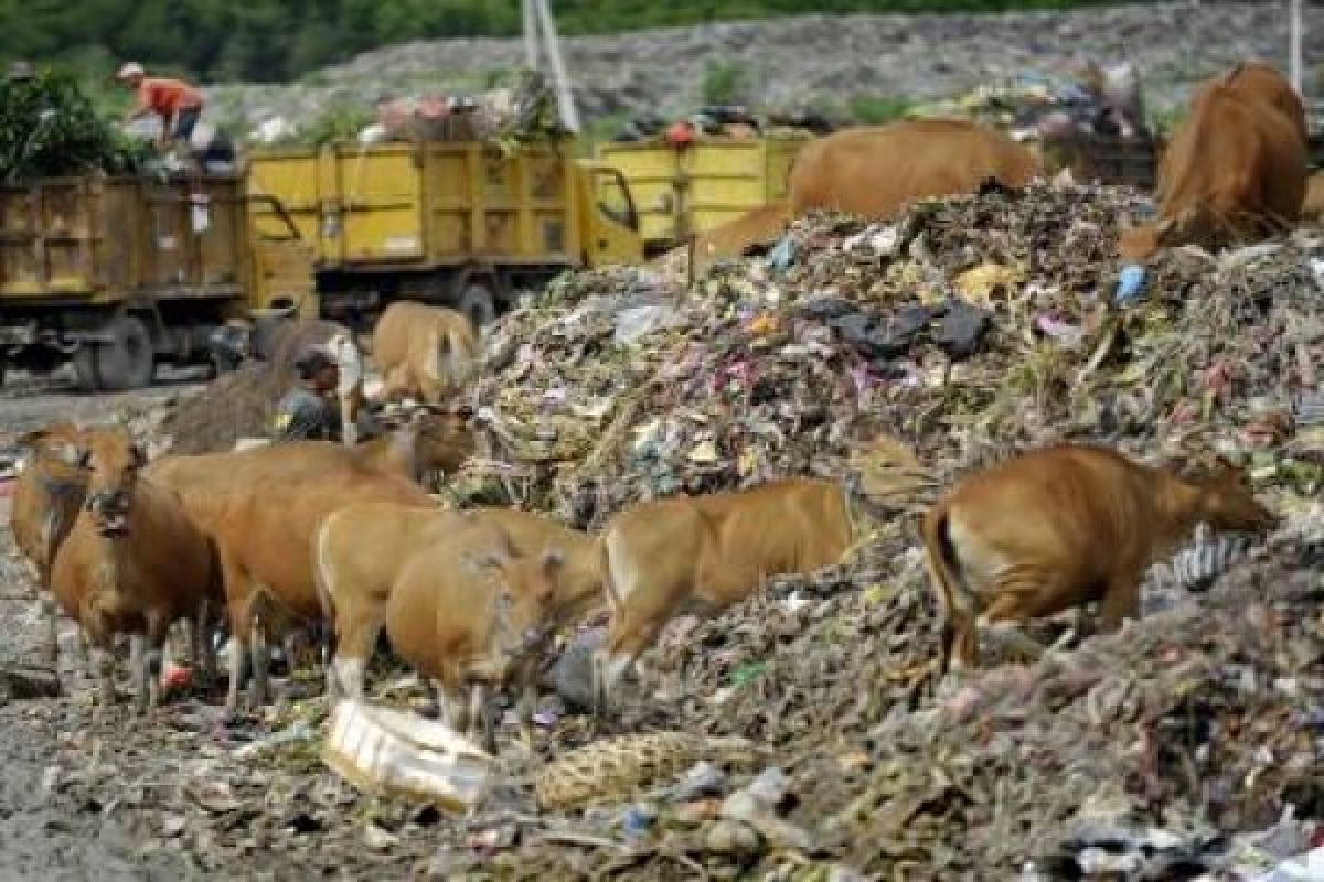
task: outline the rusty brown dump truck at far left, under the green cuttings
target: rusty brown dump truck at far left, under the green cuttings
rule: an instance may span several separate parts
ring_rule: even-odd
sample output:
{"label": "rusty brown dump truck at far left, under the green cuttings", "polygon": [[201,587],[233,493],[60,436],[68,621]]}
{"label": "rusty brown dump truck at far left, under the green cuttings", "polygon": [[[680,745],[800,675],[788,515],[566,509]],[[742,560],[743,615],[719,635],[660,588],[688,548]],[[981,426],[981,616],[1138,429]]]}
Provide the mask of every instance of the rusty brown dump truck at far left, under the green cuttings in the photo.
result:
{"label": "rusty brown dump truck at far left, under the green cuttings", "polygon": [[71,361],[86,389],[134,389],[159,362],[208,361],[218,325],[308,278],[293,227],[250,234],[244,189],[237,176],[0,188],[0,378]]}

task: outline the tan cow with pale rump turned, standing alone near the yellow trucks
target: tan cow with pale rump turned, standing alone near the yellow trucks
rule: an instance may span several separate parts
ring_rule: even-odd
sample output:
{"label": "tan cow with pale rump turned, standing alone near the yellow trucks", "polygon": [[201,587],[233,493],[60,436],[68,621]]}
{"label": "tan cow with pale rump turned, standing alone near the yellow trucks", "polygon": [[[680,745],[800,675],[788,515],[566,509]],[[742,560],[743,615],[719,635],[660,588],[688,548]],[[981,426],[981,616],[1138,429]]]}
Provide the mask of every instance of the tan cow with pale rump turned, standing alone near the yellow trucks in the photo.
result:
{"label": "tan cow with pale rump turned, standing alone near the yellow trucks", "polygon": [[384,401],[440,403],[469,381],[479,357],[478,332],[462,312],[399,300],[372,329],[372,360]]}

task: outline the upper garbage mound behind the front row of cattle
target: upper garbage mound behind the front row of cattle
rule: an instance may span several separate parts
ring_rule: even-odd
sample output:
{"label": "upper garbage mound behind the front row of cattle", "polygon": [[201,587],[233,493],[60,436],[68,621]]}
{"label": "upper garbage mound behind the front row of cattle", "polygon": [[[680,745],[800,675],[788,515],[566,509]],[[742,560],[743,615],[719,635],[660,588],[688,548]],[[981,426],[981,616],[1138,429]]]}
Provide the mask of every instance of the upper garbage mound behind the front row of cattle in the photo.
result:
{"label": "upper garbage mound behind the front row of cattle", "polygon": [[[579,525],[682,491],[842,475],[879,432],[940,471],[1055,439],[1153,455],[1198,438],[1319,487],[1317,436],[1270,454],[1317,383],[1319,245],[1176,250],[1119,311],[1116,239],[1144,209],[1128,189],[1034,185],[896,223],[801,220],[692,292],[650,268],[569,276],[490,331],[475,410],[519,475],[511,501]],[[494,480],[477,469],[461,489]]]}

